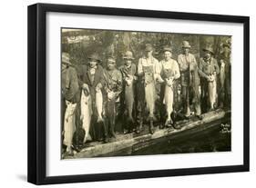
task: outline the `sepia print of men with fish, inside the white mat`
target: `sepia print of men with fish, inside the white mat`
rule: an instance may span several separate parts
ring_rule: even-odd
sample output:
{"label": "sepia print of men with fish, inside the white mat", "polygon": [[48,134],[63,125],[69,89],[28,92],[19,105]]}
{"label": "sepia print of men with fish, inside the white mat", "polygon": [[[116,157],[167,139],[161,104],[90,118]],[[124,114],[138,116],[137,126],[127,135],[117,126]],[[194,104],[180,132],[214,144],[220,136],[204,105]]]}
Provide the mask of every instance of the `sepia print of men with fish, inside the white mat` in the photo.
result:
{"label": "sepia print of men with fish, inside the white mat", "polygon": [[61,28],[61,159],[230,152],[231,39]]}

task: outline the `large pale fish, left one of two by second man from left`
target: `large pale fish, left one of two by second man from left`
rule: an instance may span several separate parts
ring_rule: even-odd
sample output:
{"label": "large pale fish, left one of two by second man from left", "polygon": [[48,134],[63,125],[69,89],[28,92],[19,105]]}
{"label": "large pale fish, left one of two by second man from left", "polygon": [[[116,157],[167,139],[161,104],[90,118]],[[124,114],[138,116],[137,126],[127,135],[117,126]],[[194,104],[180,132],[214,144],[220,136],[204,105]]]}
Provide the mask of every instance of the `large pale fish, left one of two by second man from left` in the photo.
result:
{"label": "large pale fish, left one of two by second man from left", "polygon": [[91,140],[91,136],[89,134],[90,123],[91,123],[91,115],[92,115],[92,100],[91,95],[88,93],[86,89],[82,90],[81,94],[81,115],[80,120],[82,121],[83,129],[85,130],[84,143],[87,140]]}

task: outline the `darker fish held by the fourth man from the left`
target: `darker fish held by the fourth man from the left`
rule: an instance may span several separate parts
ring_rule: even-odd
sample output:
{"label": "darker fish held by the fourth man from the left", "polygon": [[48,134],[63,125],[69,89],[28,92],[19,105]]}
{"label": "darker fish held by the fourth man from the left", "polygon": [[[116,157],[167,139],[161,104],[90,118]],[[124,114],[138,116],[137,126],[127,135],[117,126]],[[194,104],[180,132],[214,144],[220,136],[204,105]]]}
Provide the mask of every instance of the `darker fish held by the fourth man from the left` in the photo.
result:
{"label": "darker fish held by the fourth man from the left", "polygon": [[134,91],[133,91],[133,78],[126,79],[127,84],[125,86],[125,104],[128,111],[128,120],[134,123],[132,117],[133,104],[134,104]]}

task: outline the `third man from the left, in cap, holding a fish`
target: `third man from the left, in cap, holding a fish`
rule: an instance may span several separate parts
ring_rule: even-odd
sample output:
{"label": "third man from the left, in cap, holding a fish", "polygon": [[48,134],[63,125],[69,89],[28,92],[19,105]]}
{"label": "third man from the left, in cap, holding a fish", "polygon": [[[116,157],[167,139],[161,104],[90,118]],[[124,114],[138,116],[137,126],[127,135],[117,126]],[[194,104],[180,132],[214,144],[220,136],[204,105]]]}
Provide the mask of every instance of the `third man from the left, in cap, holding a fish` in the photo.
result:
{"label": "third man from the left, in cap, holding a fish", "polygon": [[118,104],[120,101],[120,94],[122,92],[122,74],[116,67],[116,57],[108,55],[107,68],[104,72],[107,92],[106,101],[106,124],[108,127],[109,137],[116,138],[116,117],[118,116]]}

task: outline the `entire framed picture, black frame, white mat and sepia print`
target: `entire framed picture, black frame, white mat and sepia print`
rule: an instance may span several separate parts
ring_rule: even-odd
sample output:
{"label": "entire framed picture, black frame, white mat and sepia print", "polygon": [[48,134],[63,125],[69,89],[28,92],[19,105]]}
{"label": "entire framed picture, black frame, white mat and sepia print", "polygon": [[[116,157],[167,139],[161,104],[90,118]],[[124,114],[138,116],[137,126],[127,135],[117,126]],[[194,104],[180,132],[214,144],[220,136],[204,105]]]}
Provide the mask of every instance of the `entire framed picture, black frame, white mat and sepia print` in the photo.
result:
{"label": "entire framed picture, black frame, white mat and sepia print", "polygon": [[241,15],[28,6],[28,182],[250,171],[249,26]]}

